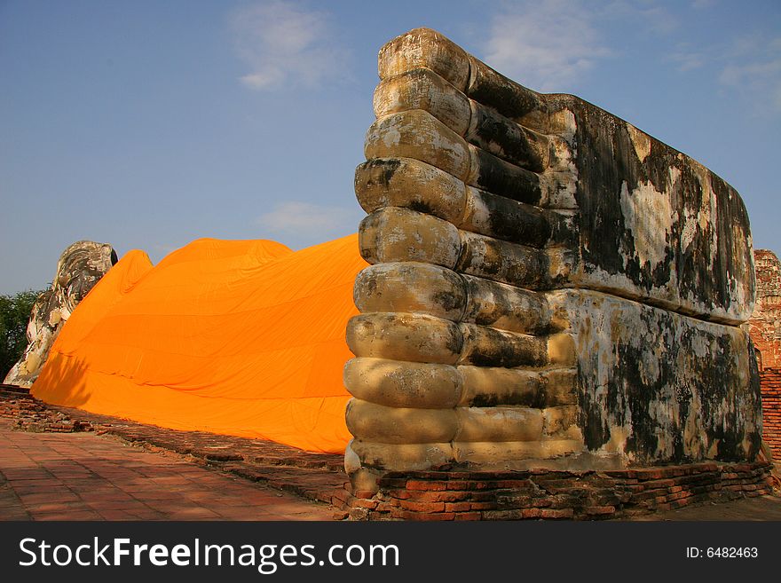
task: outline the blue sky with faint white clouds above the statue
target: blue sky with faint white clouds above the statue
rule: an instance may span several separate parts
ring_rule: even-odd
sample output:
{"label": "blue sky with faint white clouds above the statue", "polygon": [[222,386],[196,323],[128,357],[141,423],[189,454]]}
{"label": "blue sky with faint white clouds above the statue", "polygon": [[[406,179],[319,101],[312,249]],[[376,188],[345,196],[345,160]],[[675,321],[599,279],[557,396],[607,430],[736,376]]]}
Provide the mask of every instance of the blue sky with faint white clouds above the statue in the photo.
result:
{"label": "blue sky with faint white clouds above the statue", "polygon": [[80,239],[156,263],[354,232],[376,53],[420,26],[703,162],[781,251],[777,1],[0,0],[0,294]]}

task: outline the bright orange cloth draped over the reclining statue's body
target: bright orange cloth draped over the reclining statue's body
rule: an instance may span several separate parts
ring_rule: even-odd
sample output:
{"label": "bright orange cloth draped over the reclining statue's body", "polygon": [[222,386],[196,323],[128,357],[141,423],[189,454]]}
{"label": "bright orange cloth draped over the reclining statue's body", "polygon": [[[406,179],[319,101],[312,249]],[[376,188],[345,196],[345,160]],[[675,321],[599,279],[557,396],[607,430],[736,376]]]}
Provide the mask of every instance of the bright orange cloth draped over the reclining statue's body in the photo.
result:
{"label": "bright orange cloth draped over the reclining statue's body", "polygon": [[36,398],[171,429],[342,453],[358,235],[293,252],[196,240],[130,251],[67,320]]}

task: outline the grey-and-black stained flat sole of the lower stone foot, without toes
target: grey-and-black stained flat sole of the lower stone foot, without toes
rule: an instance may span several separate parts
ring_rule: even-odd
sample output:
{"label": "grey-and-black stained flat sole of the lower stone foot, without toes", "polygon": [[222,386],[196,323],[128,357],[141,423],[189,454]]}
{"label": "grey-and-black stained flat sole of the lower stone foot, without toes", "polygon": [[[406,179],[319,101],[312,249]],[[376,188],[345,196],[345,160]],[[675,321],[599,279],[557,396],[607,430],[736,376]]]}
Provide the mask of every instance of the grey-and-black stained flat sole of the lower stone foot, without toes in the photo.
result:
{"label": "grey-and-black stained flat sole of the lower stone foot, without toes", "polygon": [[761,403],[739,327],[600,292],[548,301],[573,315],[589,450],[639,465],[756,456]]}

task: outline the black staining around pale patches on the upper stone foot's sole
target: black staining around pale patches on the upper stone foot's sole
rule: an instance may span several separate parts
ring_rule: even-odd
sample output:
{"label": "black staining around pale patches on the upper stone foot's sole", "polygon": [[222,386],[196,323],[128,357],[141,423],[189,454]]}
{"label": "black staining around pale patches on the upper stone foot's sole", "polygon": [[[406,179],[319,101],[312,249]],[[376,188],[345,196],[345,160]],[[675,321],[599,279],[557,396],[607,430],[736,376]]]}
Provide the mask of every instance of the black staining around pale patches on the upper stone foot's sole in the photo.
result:
{"label": "black staining around pale patches on the upper stone foot's sole", "polygon": [[[729,310],[732,282],[751,280],[750,249],[745,244],[748,218],[738,193],[714,173],[698,170],[696,162],[685,162],[675,149],[653,138],[649,138],[651,153],[641,161],[627,123],[596,106],[572,96],[551,96],[549,101],[552,109],[566,108],[577,120],[575,198],[587,272],[599,269],[621,274],[650,291],[669,286],[675,270],[682,298],[701,304],[705,314],[713,308]],[[698,219],[708,212],[710,194],[701,180],[711,185],[716,208],[702,225]],[[657,192],[669,193],[672,206],[669,231],[659,240],[664,256],[657,264],[641,264],[633,225],[627,224],[621,209],[622,189],[633,196],[635,188],[649,183]],[[650,234],[661,237],[661,233]]]}

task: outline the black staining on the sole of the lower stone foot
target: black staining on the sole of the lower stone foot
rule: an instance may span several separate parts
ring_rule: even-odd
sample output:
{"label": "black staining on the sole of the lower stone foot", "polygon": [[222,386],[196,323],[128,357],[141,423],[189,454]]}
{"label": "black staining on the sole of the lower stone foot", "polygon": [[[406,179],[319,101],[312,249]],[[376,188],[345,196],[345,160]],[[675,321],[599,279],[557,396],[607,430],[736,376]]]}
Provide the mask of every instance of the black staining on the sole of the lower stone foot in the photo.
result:
{"label": "black staining on the sole of the lower stone foot", "polygon": [[[678,318],[649,309],[641,316],[641,327],[664,335],[665,330],[675,329]],[[657,358],[659,371],[653,375],[643,374],[639,364],[648,358],[646,352],[651,347],[613,338],[612,371],[607,384],[593,386],[588,382],[588,372],[585,375],[580,403],[588,449],[598,450],[607,444],[610,427],[618,426],[628,429],[625,452],[639,465],[694,461],[698,452],[712,450],[714,444],[716,460],[753,459],[761,439],[753,427],[753,420],[761,417],[758,373],[753,374],[756,386],[746,391],[740,383],[740,359],[735,356],[735,351],[743,347],[734,345],[731,337],[726,331],[711,335],[698,327],[685,327],[675,340],[675,351]],[[714,348],[706,356],[697,357],[693,345],[703,339]],[[678,358],[680,351],[685,358]],[[596,370],[596,356],[588,366]],[[601,398],[597,398],[599,393]],[[702,433],[691,436],[699,439],[700,445],[692,444],[687,452],[684,432],[692,415],[699,420]],[[660,447],[660,437],[664,437],[666,446]]]}

